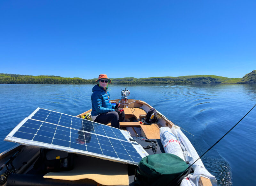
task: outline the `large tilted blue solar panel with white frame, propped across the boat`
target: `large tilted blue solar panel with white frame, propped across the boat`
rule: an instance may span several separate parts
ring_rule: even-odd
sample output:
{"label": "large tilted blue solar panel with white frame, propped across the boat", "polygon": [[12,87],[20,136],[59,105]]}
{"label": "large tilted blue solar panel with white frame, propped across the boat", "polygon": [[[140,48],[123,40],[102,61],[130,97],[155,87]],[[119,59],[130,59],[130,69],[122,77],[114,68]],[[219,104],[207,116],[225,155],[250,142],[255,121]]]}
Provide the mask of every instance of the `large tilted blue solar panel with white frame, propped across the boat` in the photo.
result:
{"label": "large tilted blue solar panel with white frame, propped across the boat", "polygon": [[37,108],[5,140],[136,165],[148,154],[129,138],[128,132],[108,125]]}

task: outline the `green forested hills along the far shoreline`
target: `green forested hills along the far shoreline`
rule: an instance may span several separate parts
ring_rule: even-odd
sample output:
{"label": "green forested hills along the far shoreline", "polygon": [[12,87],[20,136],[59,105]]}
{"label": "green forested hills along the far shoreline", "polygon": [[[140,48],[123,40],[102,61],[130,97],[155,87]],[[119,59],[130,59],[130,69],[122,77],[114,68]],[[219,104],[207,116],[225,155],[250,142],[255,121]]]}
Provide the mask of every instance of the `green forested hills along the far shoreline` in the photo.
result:
{"label": "green forested hills along the far shoreline", "polygon": [[[18,75],[0,73],[0,84],[95,84],[97,79],[69,78],[54,75]],[[216,75],[187,75],[179,77],[124,77],[112,79],[113,84],[218,84],[218,83],[256,83],[256,70],[243,78],[228,78]]]}

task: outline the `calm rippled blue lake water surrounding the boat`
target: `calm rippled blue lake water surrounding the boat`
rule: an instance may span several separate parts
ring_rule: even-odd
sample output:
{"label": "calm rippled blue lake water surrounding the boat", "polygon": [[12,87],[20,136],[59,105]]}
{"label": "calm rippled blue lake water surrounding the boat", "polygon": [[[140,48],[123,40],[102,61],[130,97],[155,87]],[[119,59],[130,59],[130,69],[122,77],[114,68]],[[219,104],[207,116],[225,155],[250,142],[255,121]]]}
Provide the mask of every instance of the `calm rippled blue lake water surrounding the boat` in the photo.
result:
{"label": "calm rippled blue lake water surrounding the boat", "polygon": [[[91,108],[94,85],[0,84],[0,153],[16,145],[5,136],[37,107],[76,116]],[[256,84],[110,85],[112,99],[121,89],[155,107],[184,132],[203,154],[256,104]],[[256,108],[204,157],[218,185],[256,185]]]}

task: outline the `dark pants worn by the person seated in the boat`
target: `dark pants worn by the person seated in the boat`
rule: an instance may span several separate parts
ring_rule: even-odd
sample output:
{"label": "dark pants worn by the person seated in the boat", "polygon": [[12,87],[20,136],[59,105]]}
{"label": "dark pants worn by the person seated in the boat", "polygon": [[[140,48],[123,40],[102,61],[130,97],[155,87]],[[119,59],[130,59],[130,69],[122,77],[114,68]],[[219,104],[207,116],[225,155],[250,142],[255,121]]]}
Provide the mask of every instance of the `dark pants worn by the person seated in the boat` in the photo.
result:
{"label": "dark pants worn by the person seated in the boat", "polygon": [[119,114],[116,111],[111,111],[107,113],[102,113],[97,118],[94,120],[97,123],[111,123],[111,126],[115,128],[120,128],[120,123],[119,122],[124,122],[125,116],[124,116],[124,111],[120,112]]}

